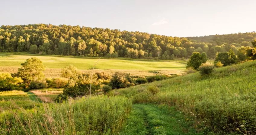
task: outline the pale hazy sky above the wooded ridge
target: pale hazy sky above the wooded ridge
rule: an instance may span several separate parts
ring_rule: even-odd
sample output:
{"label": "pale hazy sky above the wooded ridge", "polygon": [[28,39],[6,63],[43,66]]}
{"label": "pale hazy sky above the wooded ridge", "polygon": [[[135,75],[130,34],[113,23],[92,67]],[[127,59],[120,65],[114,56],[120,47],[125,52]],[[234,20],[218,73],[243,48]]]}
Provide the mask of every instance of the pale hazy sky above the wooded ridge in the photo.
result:
{"label": "pale hazy sky above the wooded ridge", "polygon": [[0,0],[0,26],[66,24],[167,36],[256,31],[256,0]]}

